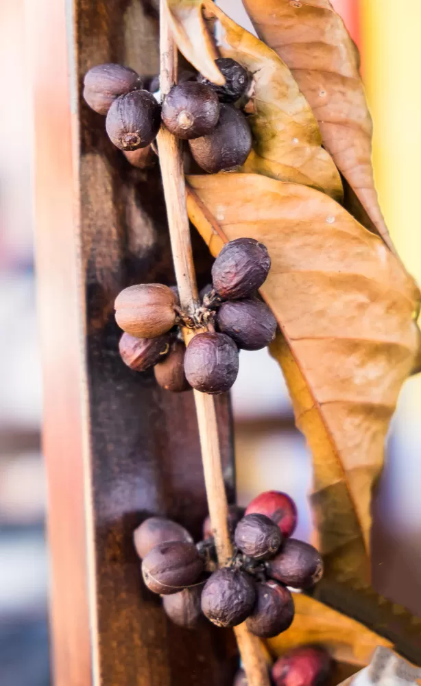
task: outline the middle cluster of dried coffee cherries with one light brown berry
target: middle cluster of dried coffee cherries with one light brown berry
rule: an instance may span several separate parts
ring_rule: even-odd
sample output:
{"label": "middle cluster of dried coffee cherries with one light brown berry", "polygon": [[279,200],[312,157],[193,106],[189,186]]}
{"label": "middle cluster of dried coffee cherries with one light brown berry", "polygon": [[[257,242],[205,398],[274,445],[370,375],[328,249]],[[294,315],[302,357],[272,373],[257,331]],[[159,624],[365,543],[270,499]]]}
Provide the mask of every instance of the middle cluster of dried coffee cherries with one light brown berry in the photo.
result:
{"label": "middle cluster of dried coffee cherries with one light brown berry", "polygon": [[[123,362],[136,371],[154,367],[160,386],[179,392],[228,391],[239,370],[239,348],[259,350],[276,333],[272,311],[256,295],[270,268],[263,244],[239,238],[222,248],[212,266],[213,283],[191,316],[180,309],[175,287],[160,283],[125,288],[115,300],[115,318],[123,333]],[[180,326],[206,327],[187,348]]]}

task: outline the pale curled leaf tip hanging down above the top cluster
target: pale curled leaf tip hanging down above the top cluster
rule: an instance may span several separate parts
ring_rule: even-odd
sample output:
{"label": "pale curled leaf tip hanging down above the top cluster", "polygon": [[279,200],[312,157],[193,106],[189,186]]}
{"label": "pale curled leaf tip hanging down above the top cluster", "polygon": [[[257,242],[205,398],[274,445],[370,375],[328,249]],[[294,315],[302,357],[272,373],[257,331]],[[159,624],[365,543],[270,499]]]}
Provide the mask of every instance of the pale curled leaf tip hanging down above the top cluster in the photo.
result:
{"label": "pale curled leaf tip hanging down above the top cluster", "polygon": [[224,76],[215,64],[217,49],[203,15],[205,4],[204,0],[167,0],[171,30],[190,64],[208,80],[224,84]]}

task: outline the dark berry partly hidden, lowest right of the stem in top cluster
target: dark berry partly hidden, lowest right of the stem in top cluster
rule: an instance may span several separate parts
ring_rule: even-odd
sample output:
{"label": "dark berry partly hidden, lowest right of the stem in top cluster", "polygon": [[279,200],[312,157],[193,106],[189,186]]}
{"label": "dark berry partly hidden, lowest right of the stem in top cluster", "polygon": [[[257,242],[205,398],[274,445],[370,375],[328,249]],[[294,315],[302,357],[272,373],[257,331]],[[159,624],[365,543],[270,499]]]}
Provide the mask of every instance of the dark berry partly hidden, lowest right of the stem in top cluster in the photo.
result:
{"label": "dark berry partly hidden, lowest right of the stem in top cluster", "polygon": [[189,146],[197,164],[209,174],[217,174],[245,163],[252,149],[252,134],[240,110],[221,104],[213,131],[189,141]]}

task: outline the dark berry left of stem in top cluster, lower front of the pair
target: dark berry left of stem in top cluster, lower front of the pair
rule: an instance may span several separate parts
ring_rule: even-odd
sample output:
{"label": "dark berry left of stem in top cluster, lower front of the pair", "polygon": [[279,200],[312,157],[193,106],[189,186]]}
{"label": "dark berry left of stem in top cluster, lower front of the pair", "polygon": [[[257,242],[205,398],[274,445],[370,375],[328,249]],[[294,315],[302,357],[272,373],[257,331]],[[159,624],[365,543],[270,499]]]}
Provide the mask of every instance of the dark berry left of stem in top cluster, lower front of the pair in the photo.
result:
{"label": "dark berry left of stem in top cluster, lower front of the pair", "polygon": [[146,147],[156,138],[160,127],[160,106],[149,91],[132,91],[112,103],[106,118],[106,131],[120,150]]}

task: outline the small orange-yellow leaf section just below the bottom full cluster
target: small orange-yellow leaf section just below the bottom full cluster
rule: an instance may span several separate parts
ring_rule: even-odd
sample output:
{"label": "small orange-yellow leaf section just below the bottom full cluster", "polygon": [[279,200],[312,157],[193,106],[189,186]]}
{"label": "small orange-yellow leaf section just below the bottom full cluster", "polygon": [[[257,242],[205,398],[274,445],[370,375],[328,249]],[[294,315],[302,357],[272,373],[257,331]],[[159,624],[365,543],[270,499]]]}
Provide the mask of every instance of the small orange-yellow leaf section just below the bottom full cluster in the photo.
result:
{"label": "small orange-yellow leaf section just below the bottom full cluster", "polygon": [[338,662],[364,666],[377,646],[392,648],[391,641],[309,595],[294,593],[293,600],[296,613],[290,628],[267,641],[274,657],[303,643],[321,643]]}

